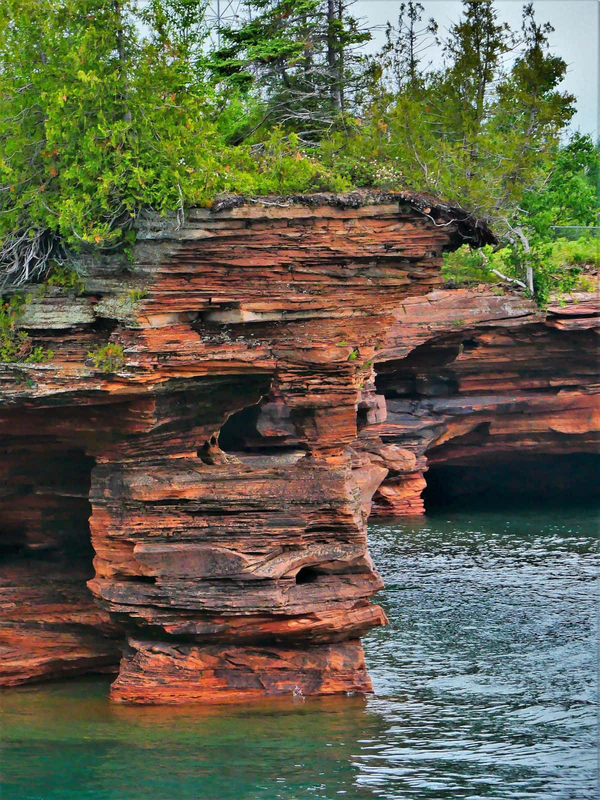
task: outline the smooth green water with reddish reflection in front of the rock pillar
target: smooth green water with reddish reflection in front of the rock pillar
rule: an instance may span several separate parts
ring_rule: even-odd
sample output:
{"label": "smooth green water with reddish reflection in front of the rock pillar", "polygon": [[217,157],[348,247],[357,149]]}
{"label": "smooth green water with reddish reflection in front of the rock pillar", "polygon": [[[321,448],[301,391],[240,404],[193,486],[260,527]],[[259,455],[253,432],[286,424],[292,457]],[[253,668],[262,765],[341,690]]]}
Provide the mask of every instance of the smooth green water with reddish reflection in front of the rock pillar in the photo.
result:
{"label": "smooth green water with reddish reflection in front of the rock pillar", "polygon": [[375,796],[358,786],[356,742],[382,738],[385,722],[364,698],[131,708],[110,706],[107,689],[88,680],[5,695],[2,798]]}

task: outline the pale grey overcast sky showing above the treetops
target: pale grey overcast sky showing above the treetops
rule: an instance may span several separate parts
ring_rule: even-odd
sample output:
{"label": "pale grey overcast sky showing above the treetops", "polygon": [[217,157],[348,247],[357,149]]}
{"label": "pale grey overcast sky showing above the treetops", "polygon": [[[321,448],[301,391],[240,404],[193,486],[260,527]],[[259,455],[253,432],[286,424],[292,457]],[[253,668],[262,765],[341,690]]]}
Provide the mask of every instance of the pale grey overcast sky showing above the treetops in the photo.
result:
{"label": "pale grey overcast sky showing above the treetops", "polygon": [[[425,6],[423,18],[434,17],[440,34],[445,34],[450,22],[456,22],[461,15],[460,0],[421,0],[421,3]],[[498,17],[508,22],[513,30],[520,30],[523,5],[523,0],[496,0],[495,3]],[[370,49],[377,50],[385,38],[386,21],[398,20],[399,6],[400,0],[357,0],[353,14],[367,20],[370,26],[382,26],[382,30],[373,31],[376,42],[370,43]],[[538,22],[550,22],[554,26],[550,45],[569,65],[560,88],[578,98],[578,113],[571,128],[595,137],[598,130],[598,0],[534,0],[534,10]]]}

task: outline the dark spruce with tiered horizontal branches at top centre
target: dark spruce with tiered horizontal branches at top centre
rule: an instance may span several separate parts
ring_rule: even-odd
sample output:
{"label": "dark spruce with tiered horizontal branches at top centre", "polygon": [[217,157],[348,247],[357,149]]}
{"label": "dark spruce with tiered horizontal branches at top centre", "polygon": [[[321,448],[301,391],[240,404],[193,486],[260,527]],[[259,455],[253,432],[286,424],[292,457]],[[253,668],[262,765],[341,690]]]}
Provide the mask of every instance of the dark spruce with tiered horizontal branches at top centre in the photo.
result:
{"label": "dark spruce with tiered horizontal branches at top centre", "polygon": [[240,26],[222,30],[216,78],[258,93],[260,124],[317,142],[354,106],[366,63],[356,48],[370,33],[346,0],[247,0],[246,14]]}

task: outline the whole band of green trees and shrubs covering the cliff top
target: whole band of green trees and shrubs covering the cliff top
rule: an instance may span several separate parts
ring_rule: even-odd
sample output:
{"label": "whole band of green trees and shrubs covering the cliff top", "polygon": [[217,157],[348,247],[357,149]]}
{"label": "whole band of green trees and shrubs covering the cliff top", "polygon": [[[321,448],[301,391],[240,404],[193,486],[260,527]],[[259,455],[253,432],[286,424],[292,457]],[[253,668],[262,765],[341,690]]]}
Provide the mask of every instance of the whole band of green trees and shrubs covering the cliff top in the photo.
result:
{"label": "whole band of green trees and shrubs covering the cliff top", "polygon": [[0,287],[127,246],[147,207],[378,186],[486,218],[532,290],[550,227],[598,214],[550,26],[463,0],[441,39],[410,0],[367,57],[351,12],[246,0],[212,45],[206,0],[0,0]]}

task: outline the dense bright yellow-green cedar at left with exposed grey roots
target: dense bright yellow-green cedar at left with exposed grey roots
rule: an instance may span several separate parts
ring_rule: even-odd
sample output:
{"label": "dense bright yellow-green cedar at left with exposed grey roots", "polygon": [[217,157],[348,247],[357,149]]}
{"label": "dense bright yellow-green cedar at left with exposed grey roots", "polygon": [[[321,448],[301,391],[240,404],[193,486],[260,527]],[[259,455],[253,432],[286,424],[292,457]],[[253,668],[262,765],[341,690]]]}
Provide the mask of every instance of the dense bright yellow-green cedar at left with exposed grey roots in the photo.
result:
{"label": "dense bright yellow-green cedar at left with exposed grey roots", "polygon": [[204,188],[193,167],[210,163],[214,124],[185,17],[198,8],[151,3],[142,40],[130,0],[2,0],[6,285],[43,274],[73,247],[118,244],[143,206],[177,208],[182,186]]}

